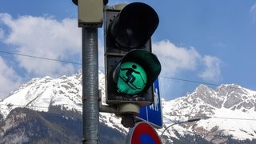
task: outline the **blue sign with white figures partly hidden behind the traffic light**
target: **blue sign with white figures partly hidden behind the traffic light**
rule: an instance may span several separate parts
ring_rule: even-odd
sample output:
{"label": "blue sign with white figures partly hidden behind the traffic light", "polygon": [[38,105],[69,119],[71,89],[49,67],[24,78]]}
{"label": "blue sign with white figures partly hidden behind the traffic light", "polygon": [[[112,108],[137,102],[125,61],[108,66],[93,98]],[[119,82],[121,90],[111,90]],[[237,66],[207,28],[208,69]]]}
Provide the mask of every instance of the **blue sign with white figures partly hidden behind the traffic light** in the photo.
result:
{"label": "blue sign with white figures partly hidden behind the traffic light", "polygon": [[154,103],[141,107],[137,118],[150,122],[157,128],[162,128],[162,106],[158,78],[154,81]]}

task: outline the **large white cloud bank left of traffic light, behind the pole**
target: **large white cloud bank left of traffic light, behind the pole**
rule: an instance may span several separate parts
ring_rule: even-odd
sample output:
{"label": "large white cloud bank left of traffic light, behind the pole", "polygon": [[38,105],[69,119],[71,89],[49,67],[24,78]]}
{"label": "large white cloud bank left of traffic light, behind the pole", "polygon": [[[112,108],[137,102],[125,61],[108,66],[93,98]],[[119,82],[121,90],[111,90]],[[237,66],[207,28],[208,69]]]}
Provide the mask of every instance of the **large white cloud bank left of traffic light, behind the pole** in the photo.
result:
{"label": "large white cloud bank left of traffic light, behind the pole", "polygon": [[[0,40],[8,45],[5,49],[10,52],[81,63],[82,31],[78,28],[77,19],[65,18],[58,21],[51,16],[26,15],[12,18],[10,14],[0,14]],[[101,70],[104,66],[103,45],[100,40],[98,52]],[[63,74],[74,74],[77,69],[82,68],[79,65],[41,58],[21,55],[13,57],[14,59],[0,59],[0,98],[17,89],[24,79],[46,75],[56,78]],[[6,62],[17,64],[22,71],[15,72]],[[21,78],[21,75],[26,78]]]}

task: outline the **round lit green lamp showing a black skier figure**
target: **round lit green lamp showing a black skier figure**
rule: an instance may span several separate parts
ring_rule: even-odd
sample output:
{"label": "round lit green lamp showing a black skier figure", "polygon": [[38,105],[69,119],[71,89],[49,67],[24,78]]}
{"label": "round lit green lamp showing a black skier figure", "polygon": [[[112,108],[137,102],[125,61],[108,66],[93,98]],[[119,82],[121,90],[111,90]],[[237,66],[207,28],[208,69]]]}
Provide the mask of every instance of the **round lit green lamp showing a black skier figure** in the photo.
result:
{"label": "round lit green lamp showing a black skier figure", "polygon": [[140,93],[146,86],[146,72],[135,62],[123,62],[118,77],[118,92],[133,95]]}

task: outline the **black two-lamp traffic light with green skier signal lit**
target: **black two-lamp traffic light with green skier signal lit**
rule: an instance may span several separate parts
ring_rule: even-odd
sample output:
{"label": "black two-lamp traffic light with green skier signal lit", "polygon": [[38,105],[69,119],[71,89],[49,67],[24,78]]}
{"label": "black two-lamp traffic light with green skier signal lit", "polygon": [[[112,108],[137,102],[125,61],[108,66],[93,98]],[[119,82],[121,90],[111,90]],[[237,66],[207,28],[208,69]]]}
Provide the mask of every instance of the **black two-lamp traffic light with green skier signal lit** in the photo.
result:
{"label": "black two-lamp traffic light with green skier signal lit", "polygon": [[106,103],[154,102],[153,82],[161,64],[151,53],[150,37],[158,22],[158,14],[142,2],[105,10]]}

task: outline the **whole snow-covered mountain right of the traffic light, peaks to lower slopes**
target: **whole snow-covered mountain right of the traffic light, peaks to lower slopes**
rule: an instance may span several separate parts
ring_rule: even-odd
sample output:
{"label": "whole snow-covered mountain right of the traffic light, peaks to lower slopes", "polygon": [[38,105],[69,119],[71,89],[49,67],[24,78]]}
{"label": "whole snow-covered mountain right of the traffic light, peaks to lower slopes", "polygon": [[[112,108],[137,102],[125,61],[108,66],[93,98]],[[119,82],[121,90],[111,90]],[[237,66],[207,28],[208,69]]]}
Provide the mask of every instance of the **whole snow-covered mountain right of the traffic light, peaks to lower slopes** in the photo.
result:
{"label": "whole snow-covered mountain right of the traffic light, peaks to lower slopes", "polygon": [[256,91],[230,84],[212,90],[200,85],[192,94],[170,102],[162,102],[164,123],[182,122],[188,118],[201,118],[186,126],[175,125],[169,136],[199,134],[209,142],[256,140]]}

